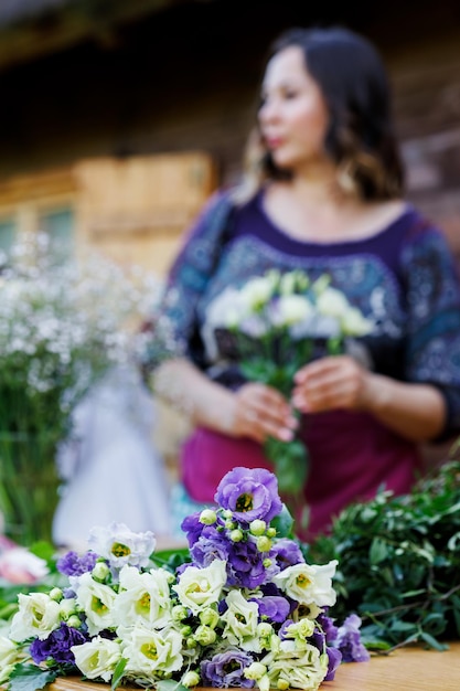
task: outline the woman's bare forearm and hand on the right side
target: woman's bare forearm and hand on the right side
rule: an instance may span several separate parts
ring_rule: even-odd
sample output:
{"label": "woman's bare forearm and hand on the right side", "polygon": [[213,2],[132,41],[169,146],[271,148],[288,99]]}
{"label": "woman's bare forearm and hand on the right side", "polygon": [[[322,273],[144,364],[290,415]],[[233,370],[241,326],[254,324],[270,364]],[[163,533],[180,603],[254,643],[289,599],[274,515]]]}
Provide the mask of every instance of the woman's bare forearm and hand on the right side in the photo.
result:
{"label": "woman's bare forearm and hand on the right side", "polygon": [[303,413],[366,411],[416,442],[434,439],[445,428],[446,401],[438,389],[368,372],[350,355],[311,362],[299,370],[295,382],[292,404]]}

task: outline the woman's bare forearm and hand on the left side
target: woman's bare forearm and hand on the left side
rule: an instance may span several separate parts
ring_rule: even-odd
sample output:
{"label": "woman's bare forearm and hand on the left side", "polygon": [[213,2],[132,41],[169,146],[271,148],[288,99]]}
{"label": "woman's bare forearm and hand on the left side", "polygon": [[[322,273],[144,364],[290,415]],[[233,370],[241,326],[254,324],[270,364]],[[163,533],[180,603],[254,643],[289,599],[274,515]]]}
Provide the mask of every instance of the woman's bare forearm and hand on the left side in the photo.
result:
{"label": "woman's bare forearm and hand on the left side", "polygon": [[183,411],[195,425],[263,443],[268,436],[290,440],[297,421],[282,395],[259,383],[233,392],[210,380],[184,358],[158,368],[156,393]]}

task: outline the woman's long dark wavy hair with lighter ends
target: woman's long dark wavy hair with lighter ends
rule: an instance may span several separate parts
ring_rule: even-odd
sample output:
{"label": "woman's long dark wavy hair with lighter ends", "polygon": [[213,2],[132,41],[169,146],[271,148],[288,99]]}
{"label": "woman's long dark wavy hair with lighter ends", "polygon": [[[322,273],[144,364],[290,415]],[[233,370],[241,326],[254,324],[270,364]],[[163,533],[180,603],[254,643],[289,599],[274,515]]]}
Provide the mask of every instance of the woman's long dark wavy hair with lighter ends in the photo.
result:
{"label": "woman's long dark wavy hair with lighter ends", "polygon": [[[272,44],[268,60],[282,50],[302,50],[306,68],[328,104],[324,149],[338,166],[338,180],[362,199],[383,201],[404,192],[404,169],[396,141],[389,85],[373,44],[343,28],[290,29]],[[256,185],[286,178],[274,163],[259,132],[253,134],[248,167]]]}

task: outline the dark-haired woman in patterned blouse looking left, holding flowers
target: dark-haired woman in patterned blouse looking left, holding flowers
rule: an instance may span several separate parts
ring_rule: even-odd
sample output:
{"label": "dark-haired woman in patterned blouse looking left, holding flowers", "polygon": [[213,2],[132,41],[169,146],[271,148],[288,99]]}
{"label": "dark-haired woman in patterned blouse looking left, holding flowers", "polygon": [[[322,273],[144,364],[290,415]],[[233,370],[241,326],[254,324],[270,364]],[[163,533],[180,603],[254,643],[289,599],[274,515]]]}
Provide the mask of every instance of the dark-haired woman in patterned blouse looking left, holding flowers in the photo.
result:
{"label": "dark-haired woman in patterned blouse looking left, holding flowers", "polygon": [[[197,502],[234,466],[269,467],[268,436],[298,434],[311,539],[382,485],[408,491],[418,444],[460,429],[460,286],[441,233],[403,199],[385,71],[361,36],[299,29],[276,42],[248,160],[246,184],[212,200],[171,270],[165,313],[184,355],[160,366],[157,389],[196,426],[181,468]],[[364,360],[306,363],[290,401],[203,346],[213,299],[271,267],[327,272],[375,325]]]}

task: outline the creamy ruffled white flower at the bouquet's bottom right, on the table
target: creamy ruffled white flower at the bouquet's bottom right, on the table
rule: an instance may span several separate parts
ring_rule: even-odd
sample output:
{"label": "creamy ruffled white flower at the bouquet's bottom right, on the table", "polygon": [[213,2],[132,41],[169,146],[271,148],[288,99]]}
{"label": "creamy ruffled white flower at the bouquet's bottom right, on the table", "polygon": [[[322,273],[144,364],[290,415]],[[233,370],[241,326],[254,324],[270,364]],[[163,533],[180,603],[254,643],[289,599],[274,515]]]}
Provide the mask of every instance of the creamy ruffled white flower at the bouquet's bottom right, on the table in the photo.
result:
{"label": "creamy ruffled white flower at the bouquet's bottom right, on the table", "polygon": [[[300,649],[293,640],[281,641],[280,649],[260,660],[268,669],[271,688],[317,691],[328,673],[328,656],[307,644]],[[286,685],[287,684],[287,685]]]}

